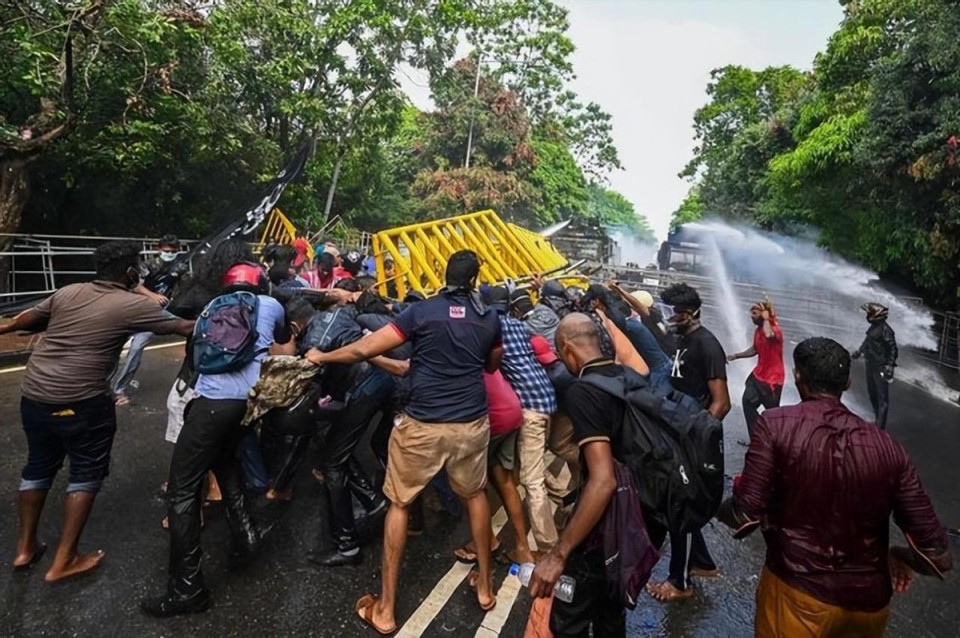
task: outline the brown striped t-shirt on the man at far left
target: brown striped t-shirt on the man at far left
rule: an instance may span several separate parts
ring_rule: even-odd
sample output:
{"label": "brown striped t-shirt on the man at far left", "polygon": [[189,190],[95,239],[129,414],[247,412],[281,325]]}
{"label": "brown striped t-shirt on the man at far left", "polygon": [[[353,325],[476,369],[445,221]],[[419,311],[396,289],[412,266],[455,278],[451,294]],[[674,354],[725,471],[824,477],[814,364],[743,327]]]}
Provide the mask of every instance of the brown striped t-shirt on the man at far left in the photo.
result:
{"label": "brown striped t-shirt on the man at far left", "polygon": [[21,392],[54,404],[109,394],[107,378],[130,335],[170,334],[181,322],[157,302],[106,281],[65,286],[33,312],[48,320],[47,330],[30,355]]}

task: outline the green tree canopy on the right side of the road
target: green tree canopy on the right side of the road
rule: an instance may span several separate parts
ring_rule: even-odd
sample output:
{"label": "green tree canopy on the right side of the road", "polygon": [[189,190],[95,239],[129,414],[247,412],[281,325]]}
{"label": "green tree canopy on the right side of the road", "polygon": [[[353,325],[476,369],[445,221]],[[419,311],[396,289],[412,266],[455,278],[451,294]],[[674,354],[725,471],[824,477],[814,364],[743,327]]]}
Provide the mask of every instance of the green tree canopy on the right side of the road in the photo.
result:
{"label": "green tree canopy on the right side of the road", "polygon": [[717,69],[696,113],[705,212],[812,225],[821,243],[935,302],[960,300],[960,12],[950,0],[844,0],[810,73]]}

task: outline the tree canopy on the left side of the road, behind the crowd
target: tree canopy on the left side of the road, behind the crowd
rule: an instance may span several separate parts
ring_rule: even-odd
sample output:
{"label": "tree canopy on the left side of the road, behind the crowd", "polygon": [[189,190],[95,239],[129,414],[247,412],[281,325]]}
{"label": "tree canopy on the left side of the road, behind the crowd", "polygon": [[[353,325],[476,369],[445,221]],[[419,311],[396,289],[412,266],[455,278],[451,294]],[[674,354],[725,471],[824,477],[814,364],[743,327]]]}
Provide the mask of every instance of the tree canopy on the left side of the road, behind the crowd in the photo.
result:
{"label": "tree canopy on the left side of the road, behind the crowd", "polygon": [[[491,207],[643,230],[604,187],[609,114],[566,88],[568,27],[551,0],[10,0],[0,232],[199,235],[309,138],[280,203],[297,223]],[[474,50],[455,60],[461,41]],[[400,89],[411,70],[429,112]]]}

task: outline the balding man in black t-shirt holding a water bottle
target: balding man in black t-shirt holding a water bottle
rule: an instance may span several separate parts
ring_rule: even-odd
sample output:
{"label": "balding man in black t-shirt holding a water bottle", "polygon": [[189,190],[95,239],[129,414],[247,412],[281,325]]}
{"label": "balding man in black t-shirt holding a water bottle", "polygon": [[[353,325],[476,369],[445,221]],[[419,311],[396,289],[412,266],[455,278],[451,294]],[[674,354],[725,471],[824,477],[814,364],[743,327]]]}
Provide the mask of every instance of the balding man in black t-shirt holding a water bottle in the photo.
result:
{"label": "balding man in black t-shirt holding a water bottle", "polygon": [[623,420],[624,404],[603,390],[581,381],[587,375],[620,376],[621,366],[603,356],[600,331],[587,315],[569,314],[557,327],[557,354],[578,377],[564,393],[563,403],[573,422],[574,438],[586,474],[577,506],[560,541],[537,563],[530,594],[547,597],[561,575],[576,580],[573,600],[554,599],[550,631],[555,636],[626,636],[626,612],[609,594],[603,548],[584,542],[600,522],[617,489],[611,429]]}

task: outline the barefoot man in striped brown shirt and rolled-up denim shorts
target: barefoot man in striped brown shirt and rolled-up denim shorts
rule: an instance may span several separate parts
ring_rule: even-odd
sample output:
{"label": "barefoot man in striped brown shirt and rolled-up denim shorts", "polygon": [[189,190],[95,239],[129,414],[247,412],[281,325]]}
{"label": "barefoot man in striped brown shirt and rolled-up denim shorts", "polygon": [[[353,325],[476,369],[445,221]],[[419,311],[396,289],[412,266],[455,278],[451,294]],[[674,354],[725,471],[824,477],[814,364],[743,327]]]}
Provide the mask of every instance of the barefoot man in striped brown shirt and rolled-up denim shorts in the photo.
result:
{"label": "barefoot man in striped brown shirt and rolled-up denim shorts", "polygon": [[108,379],[123,344],[136,332],[187,335],[193,328],[193,322],[130,292],[140,282],[136,244],[110,242],[94,258],[96,280],[61,288],[0,326],[0,334],[46,330],[21,385],[20,414],[29,451],[20,481],[14,569],[33,565],[46,551],[37,541],[37,524],[57,471],[70,459],[64,525],[47,581],[81,574],[103,560],[102,551],[78,554],[77,544],[110,469],[117,415]]}

